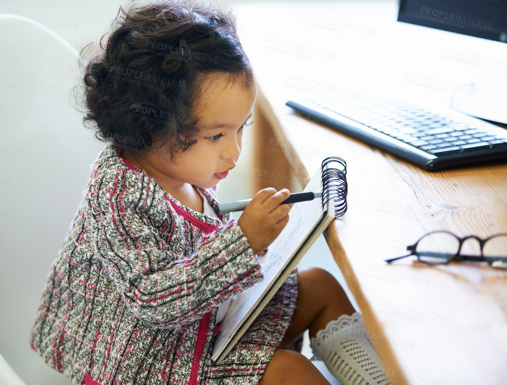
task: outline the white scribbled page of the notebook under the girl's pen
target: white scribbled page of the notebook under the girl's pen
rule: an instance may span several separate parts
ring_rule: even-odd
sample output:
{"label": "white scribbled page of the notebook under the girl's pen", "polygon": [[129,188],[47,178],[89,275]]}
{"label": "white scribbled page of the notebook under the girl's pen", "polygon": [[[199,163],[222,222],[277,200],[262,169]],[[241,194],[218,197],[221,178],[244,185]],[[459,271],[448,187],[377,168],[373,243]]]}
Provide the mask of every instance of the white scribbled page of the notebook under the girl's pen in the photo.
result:
{"label": "white scribbled page of the notebook under the girl's pen", "polygon": [[[322,173],[319,170],[308,182],[304,191],[321,192]],[[222,328],[213,348],[213,357],[218,356],[227,339],[234,335],[250,310],[255,308],[263,295],[268,291],[276,275],[292,259],[296,251],[304,243],[313,227],[322,216],[322,201],[320,198],[313,201],[295,203],[289,211],[289,221],[280,235],[268,247],[268,252],[258,256],[264,279],[246,289],[243,293],[233,297],[229,310],[219,326]]]}

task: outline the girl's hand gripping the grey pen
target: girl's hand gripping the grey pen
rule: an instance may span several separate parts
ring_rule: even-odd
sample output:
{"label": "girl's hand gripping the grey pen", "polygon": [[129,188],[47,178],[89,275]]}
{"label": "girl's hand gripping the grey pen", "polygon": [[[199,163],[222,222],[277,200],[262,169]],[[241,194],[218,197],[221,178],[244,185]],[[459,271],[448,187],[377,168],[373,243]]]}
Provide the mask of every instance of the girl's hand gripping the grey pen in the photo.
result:
{"label": "girl's hand gripping the grey pen", "polygon": [[289,195],[291,192],[286,188],[280,191],[273,187],[263,188],[243,210],[238,224],[255,254],[264,252],[287,224],[291,208],[280,203]]}

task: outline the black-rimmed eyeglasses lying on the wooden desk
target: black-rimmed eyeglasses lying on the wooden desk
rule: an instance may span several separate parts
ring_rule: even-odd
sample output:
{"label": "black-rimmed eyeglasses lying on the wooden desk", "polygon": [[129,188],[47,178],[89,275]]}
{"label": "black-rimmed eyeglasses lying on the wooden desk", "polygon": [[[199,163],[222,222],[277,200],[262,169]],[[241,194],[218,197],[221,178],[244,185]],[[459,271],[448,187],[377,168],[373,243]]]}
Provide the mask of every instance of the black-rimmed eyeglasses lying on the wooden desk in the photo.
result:
{"label": "black-rimmed eyeglasses lying on the wooden desk", "polygon": [[[463,242],[469,238],[479,241],[480,253],[474,250],[472,242],[467,242],[462,251]],[[386,259],[390,263],[396,259],[416,255],[417,259],[426,264],[448,263],[450,261],[486,261],[493,267],[507,268],[507,234],[495,234],[486,239],[475,235],[459,238],[447,231],[434,231],[420,238],[415,244],[407,246],[410,254],[402,257]],[[475,254],[475,255],[467,255]],[[478,255],[480,254],[480,255]]]}

